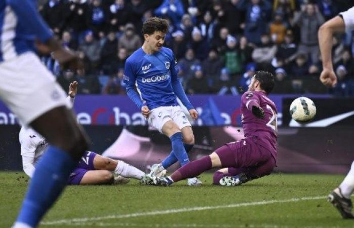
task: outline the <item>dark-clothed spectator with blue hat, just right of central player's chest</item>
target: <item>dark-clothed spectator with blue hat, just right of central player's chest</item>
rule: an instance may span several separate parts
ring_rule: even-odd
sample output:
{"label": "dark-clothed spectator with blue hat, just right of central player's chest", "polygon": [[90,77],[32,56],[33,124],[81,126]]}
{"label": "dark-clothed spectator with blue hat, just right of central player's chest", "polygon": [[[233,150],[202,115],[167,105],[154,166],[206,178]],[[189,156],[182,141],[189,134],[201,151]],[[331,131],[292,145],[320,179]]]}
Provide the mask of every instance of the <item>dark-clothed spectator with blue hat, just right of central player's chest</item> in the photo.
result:
{"label": "dark-clothed spectator with blue hat, just right of central player's chest", "polygon": [[187,93],[188,94],[207,94],[210,93],[207,79],[204,77],[201,65],[193,65],[193,78],[188,81]]}

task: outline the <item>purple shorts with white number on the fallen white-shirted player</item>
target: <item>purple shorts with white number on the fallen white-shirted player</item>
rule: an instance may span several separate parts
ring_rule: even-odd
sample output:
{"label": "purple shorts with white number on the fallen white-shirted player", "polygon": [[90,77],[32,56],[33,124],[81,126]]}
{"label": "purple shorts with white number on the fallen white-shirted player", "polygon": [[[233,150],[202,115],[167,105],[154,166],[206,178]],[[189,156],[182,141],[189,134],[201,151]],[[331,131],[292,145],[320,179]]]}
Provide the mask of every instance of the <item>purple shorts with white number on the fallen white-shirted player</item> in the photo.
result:
{"label": "purple shorts with white number on the fallen white-shirted player", "polygon": [[85,151],[85,154],[81,157],[78,166],[71,172],[68,184],[78,185],[81,182],[82,177],[89,170],[95,170],[94,159],[96,153],[91,151]]}

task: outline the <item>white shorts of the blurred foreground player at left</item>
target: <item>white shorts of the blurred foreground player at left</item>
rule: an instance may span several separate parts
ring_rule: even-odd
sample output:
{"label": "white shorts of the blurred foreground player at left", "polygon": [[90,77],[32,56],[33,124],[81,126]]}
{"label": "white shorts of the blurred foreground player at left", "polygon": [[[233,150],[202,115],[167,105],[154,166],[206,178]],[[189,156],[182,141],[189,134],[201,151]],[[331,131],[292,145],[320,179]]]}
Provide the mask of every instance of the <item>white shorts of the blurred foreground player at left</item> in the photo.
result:
{"label": "white shorts of the blurred foreground player at left", "polygon": [[34,53],[26,52],[0,63],[0,98],[21,124],[28,125],[55,107],[70,107],[66,96]]}

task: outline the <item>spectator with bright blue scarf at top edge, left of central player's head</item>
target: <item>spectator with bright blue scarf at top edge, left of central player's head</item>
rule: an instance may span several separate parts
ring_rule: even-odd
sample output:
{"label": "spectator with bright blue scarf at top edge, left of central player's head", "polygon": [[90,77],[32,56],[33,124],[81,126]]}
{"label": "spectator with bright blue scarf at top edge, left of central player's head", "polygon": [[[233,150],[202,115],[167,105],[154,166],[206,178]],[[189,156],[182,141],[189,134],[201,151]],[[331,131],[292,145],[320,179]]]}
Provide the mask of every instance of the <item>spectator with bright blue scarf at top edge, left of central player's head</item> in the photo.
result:
{"label": "spectator with bright blue scarf at top edge, left of central player's head", "polygon": [[87,12],[87,24],[96,37],[103,38],[108,24],[108,13],[105,11],[102,0],[93,0]]}

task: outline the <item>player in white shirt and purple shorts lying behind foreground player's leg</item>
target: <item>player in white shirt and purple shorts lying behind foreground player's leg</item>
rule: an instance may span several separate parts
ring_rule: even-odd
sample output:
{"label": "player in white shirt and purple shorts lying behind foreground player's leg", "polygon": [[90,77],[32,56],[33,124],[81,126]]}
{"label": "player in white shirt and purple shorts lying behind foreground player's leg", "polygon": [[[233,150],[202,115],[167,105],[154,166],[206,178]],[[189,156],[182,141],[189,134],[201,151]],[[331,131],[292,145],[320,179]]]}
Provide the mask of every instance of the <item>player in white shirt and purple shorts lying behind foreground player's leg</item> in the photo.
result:
{"label": "player in white shirt and purple shorts lying behind foreground player's leg", "polygon": [[[69,86],[67,99],[73,103],[77,93],[77,82]],[[19,134],[23,170],[32,178],[35,166],[48,147],[47,140],[31,128],[22,127]],[[68,184],[127,183],[129,177],[141,179],[144,172],[123,161],[102,157],[86,151],[78,166],[71,172]]]}

